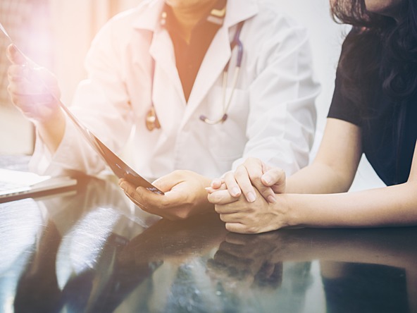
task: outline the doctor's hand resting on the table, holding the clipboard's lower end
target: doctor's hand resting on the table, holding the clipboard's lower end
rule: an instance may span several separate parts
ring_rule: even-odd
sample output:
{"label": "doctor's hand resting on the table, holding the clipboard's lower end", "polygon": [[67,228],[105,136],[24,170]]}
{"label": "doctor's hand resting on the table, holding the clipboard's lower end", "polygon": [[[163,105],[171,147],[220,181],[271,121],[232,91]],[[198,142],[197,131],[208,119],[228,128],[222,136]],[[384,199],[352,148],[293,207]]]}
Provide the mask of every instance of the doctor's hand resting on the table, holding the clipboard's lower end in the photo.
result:
{"label": "doctor's hand resting on the table, holding the clipboard's lower end", "polygon": [[176,220],[213,210],[214,206],[208,202],[205,190],[210,181],[210,178],[192,171],[173,171],[152,183],[165,195],[143,187],[136,188],[124,179],[119,180],[119,185],[127,197],[144,211]]}

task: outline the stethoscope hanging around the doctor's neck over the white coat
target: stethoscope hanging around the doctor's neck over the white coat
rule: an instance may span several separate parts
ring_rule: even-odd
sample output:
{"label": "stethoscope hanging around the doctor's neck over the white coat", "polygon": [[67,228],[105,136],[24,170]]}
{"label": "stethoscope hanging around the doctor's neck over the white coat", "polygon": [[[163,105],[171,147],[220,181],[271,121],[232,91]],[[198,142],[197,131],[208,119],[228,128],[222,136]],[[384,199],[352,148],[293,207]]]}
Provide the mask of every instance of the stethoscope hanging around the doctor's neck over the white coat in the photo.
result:
{"label": "stethoscope hanging around the doctor's neck over the white coat", "polygon": [[[236,67],[235,67],[235,72],[233,73],[232,91],[230,92],[228,99],[226,99],[227,98],[226,90],[228,87],[228,76],[229,76],[229,65],[230,65],[230,59],[232,58],[232,56],[230,56],[228,63],[223,69],[223,84],[222,84],[223,114],[220,118],[216,120],[211,120],[207,116],[201,115],[200,120],[203,121],[204,123],[207,123],[208,125],[216,125],[218,123],[224,123],[228,119],[228,109],[229,109],[230,103],[232,102],[233,94],[235,93],[235,89],[237,85],[237,78],[239,78],[239,70],[240,70],[240,66],[242,65],[243,44],[240,41],[239,37],[240,37],[240,32],[242,30],[243,24],[244,24],[244,21],[237,24],[235,36],[233,37],[232,42],[230,42],[230,49],[232,52],[233,52],[233,49],[237,47]],[[154,64],[153,64],[152,73],[154,73]],[[153,81],[154,77],[152,76],[151,79]],[[151,104],[151,109],[149,109],[149,111],[147,112],[145,122],[147,125],[147,129],[149,131],[154,130],[155,128],[157,129],[161,128],[161,124],[158,121],[158,116],[156,116],[156,111],[155,111],[155,107],[153,103]]]}

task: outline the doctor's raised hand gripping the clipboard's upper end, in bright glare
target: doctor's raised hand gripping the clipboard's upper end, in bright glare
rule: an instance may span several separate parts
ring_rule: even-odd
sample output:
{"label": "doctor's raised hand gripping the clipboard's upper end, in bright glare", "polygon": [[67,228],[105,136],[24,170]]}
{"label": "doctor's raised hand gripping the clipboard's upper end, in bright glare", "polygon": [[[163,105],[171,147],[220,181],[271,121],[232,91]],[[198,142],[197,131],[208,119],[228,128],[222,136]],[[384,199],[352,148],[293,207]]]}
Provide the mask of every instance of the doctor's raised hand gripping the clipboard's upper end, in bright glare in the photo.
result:
{"label": "doctor's raised hand gripping the clipboard's upper end, in bright glare", "polygon": [[57,101],[61,94],[55,76],[23,55],[14,44],[8,46],[7,57],[11,61],[8,93],[13,104],[35,122],[49,121],[62,114]]}

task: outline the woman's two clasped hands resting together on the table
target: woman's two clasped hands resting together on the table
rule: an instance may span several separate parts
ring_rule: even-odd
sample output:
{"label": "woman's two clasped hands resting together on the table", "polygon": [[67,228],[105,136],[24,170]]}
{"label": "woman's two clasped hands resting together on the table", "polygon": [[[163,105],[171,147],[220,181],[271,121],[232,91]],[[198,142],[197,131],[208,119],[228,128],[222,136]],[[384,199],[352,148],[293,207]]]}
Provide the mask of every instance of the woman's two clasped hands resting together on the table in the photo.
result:
{"label": "woman's two clasped hands resting together on the table", "polygon": [[287,226],[285,172],[249,158],[237,170],[213,180],[208,201],[228,231],[263,233]]}

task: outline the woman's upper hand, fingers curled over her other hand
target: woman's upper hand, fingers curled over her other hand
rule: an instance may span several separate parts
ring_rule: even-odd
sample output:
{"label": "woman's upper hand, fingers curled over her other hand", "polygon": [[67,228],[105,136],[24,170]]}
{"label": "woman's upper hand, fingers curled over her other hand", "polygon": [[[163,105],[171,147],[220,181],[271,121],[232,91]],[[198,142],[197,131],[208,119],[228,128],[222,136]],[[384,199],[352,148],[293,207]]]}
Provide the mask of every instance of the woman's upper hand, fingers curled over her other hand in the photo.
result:
{"label": "woman's upper hand, fingers curled over her other hand", "polygon": [[267,202],[275,203],[275,194],[285,192],[285,182],[285,172],[282,169],[268,166],[259,159],[248,158],[235,172],[230,171],[223,178],[213,180],[208,192],[227,189],[228,192],[223,191],[216,195],[223,195],[224,204],[233,202],[242,194],[247,202],[254,202],[256,189]]}

